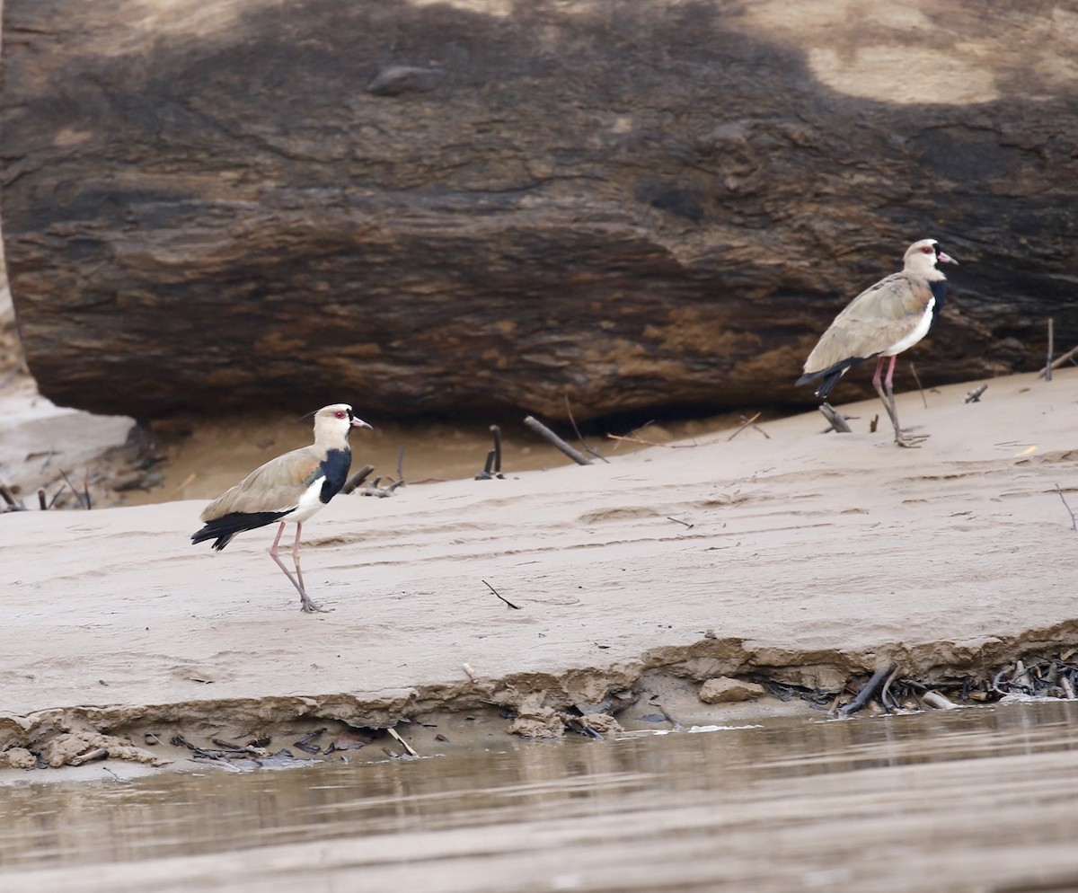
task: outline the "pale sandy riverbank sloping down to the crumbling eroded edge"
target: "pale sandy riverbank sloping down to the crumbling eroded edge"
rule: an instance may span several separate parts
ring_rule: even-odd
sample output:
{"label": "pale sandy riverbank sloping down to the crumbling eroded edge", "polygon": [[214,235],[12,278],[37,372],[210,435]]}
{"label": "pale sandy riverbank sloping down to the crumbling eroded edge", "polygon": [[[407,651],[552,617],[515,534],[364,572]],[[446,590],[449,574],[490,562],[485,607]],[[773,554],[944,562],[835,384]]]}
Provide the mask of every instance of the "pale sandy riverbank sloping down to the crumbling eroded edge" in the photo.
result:
{"label": "pale sandy riverbank sloping down to the crumbling eroded edge", "polygon": [[[930,679],[1059,654],[1078,636],[1055,490],[1078,506],[1078,371],[968,389],[899,398],[920,450],[811,413],[770,438],[340,496],[305,530],[315,616],[270,534],[191,546],[202,502],[0,516],[0,750],[490,704],[541,724],[649,674],[681,681],[681,702],[653,700],[692,719],[715,676],[833,688],[885,660]],[[859,431],[879,412],[843,409]]]}

